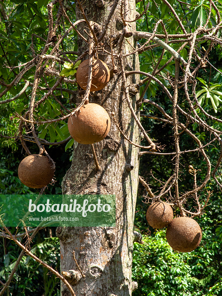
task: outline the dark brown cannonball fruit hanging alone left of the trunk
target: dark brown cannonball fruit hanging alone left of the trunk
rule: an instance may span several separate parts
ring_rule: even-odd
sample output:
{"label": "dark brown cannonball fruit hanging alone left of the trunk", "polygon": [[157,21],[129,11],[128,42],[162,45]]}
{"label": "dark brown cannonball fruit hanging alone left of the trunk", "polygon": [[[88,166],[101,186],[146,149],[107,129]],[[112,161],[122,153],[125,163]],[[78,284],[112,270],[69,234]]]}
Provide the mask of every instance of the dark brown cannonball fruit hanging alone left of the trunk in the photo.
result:
{"label": "dark brown cannonball fruit hanging alone left of the trunk", "polygon": [[30,188],[42,188],[52,182],[54,168],[48,157],[32,154],[25,157],[19,164],[20,181]]}

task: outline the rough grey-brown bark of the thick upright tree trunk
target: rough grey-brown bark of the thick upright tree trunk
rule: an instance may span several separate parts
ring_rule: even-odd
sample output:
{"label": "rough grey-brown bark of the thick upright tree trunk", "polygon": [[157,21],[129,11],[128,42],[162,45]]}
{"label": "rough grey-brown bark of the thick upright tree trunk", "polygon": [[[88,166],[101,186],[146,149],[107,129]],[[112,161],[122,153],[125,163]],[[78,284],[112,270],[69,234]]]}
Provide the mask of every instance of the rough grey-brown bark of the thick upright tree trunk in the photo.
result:
{"label": "rough grey-brown bark of the thick upright tree trunk", "polygon": [[[100,2],[99,2],[100,3]],[[107,15],[112,8],[113,1],[104,2],[103,7],[98,7],[95,2],[87,0],[84,6],[88,19],[104,27]],[[135,1],[128,1],[128,17],[133,20],[136,14]],[[79,10],[76,12],[77,20],[82,19]],[[123,24],[118,19],[118,10],[113,15],[107,33],[118,35],[122,33]],[[136,24],[130,23],[130,30],[136,31]],[[78,30],[83,32],[83,25]],[[86,36],[86,34],[85,34]],[[103,38],[105,48],[107,35]],[[127,39],[136,47],[133,37]],[[131,45],[124,38],[124,53],[132,51]],[[80,38],[78,40],[79,51],[87,48]],[[117,47],[118,49],[118,47]],[[116,50],[116,49],[114,49]],[[118,53],[118,51],[117,51]],[[85,58],[88,58],[87,56]],[[111,57],[99,55],[112,69]],[[118,57],[115,64],[120,69]],[[128,56],[125,60],[126,70],[139,70],[138,56]],[[119,70],[120,72],[120,70]],[[128,84],[139,82],[139,75],[127,78]],[[111,128],[108,136],[101,142],[94,144],[101,170],[96,171],[90,145],[74,144],[73,162],[67,171],[62,184],[63,194],[116,194],[116,227],[67,227],[57,228],[57,236],[60,239],[61,271],[70,271],[69,276],[78,274],[72,252],[84,277],[76,283],[73,281],[73,289],[76,295],[109,296],[131,295],[136,289],[136,283],[131,280],[133,221],[136,205],[139,170],[139,149],[129,145],[118,132],[112,122],[111,112],[115,112],[118,122],[121,121],[124,132],[130,136],[131,141],[139,144],[139,129],[129,112],[123,89],[121,91],[121,73],[114,74],[105,89],[90,95],[89,102],[102,105],[110,115]],[[131,88],[132,89],[132,88]],[[137,94],[130,94],[134,109]],[[129,165],[133,166],[129,170]],[[78,274],[79,276],[79,274]],[[70,292],[63,285],[61,295],[68,296]]]}

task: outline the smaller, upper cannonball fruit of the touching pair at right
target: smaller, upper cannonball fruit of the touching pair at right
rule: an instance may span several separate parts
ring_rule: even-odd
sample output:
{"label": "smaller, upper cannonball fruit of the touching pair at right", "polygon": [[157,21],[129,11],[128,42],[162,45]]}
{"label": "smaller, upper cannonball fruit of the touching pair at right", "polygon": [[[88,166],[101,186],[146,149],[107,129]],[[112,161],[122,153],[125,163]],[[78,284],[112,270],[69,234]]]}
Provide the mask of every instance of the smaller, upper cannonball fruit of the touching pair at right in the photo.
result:
{"label": "smaller, upper cannonball fruit of the touching pair at right", "polygon": [[173,210],[166,202],[155,202],[148,207],[146,217],[150,226],[162,229],[173,220]]}

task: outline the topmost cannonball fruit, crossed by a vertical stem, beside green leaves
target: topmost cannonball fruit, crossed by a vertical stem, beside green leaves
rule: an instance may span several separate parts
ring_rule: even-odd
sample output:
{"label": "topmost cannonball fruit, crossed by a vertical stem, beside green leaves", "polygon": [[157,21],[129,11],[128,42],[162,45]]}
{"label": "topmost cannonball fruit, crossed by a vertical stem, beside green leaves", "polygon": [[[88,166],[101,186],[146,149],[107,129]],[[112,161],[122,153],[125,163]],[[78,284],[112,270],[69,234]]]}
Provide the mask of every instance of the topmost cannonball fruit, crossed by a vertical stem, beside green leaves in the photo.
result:
{"label": "topmost cannonball fruit, crossed by a vertical stem, beside green leaves", "polygon": [[[89,59],[81,62],[76,72],[76,80],[79,86],[86,90],[89,77]],[[93,59],[92,82],[90,91],[103,89],[110,80],[110,70],[100,59]]]}

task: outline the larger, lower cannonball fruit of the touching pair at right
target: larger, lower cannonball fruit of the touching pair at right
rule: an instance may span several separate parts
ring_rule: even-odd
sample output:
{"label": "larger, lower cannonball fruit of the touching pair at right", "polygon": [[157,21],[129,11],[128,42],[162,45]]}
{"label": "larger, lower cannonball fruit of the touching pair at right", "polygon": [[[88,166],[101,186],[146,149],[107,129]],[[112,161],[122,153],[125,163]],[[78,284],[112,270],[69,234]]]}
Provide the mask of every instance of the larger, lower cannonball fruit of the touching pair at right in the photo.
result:
{"label": "larger, lower cannonball fruit of the touching pair at right", "polygon": [[202,232],[199,224],[194,219],[178,217],[174,218],[168,225],[166,237],[173,250],[191,252],[199,246]]}

